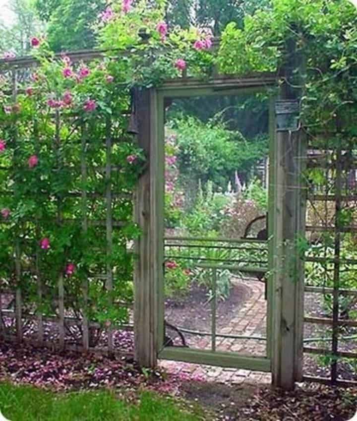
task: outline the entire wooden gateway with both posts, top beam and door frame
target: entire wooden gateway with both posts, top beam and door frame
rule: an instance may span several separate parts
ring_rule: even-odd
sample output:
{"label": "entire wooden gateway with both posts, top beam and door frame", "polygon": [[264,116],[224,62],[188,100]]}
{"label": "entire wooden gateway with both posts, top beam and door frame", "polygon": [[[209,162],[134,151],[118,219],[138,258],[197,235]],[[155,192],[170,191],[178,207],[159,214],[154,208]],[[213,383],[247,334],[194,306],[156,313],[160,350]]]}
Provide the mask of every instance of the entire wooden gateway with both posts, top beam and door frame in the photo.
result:
{"label": "entire wooden gateway with both posts, top beam and door frame", "polygon": [[[291,73],[288,74],[289,69],[286,71],[285,80],[289,81]],[[295,381],[302,378],[303,272],[296,239],[304,233],[305,208],[300,175],[305,148],[294,120],[298,93],[288,89],[285,83],[277,96],[276,89],[272,89],[276,85],[275,74],[256,74],[243,78],[217,77],[208,82],[181,79],[136,93],[138,142],[149,157],[149,165],[139,180],[135,198],[135,218],[142,228],[136,250],[135,353],[138,362],[144,366],[154,367],[157,359],[163,358],[271,371],[274,384],[284,388],[292,388]],[[212,96],[222,92],[225,95],[263,92],[270,96],[268,262],[267,267],[255,268],[266,274],[265,357],[218,352],[215,347],[215,307],[212,308],[210,351],[165,347],[164,343],[165,103],[169,98]],[[256,244],[262,246],[262,242],[256,241]],[[222,263],[221,266],[203,268],[212,273],[214,294],[214,280],[222,268]]]}

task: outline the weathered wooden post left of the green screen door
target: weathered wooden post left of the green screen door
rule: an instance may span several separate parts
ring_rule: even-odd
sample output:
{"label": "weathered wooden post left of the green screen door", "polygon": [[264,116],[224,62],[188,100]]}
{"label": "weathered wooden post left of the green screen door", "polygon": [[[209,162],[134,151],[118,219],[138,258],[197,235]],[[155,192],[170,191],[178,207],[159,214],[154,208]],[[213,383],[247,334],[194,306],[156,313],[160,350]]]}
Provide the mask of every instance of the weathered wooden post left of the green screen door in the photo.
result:
{"label": "weathered wooden post left of the green screen door", "polygon": [[[148,167],[140,177],[135,192],[134,215],[142,234],[136,241],[137,260],[134,271],[134,333],[135,359],[142,366],[155,367],[158,355],[158,302],[159,277],[162,267],[158,267],[160,250],[160,215],[157,212],[157,188],[160,167],[157,150],[157,94],[155,90],[137,92],[138,144],[145,151]],[[159,171],[160,173],[160,171]],[[160,196],[160,195],[159,195]]]}

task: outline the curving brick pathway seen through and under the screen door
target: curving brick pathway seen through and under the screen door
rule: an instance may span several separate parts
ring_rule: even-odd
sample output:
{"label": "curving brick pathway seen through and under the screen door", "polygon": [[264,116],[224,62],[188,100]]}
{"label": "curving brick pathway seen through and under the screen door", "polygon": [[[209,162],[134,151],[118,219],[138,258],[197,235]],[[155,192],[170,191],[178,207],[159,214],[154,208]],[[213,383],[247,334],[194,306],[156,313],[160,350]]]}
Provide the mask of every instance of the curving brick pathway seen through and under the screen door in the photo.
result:
{"label": "curving brick pathway seen through and under the screen door", "polygon": [[[250,289],[249,298],[232,316],[228,325],[217,329],[217,333],[264,336],[266,337],[266,301],[265,286],[256,280],[242,280],[234,278],[233,284],[243,284]],[[186,335],[185,335],[186,336]],[[210,349],[210,337],[188,335],[186,337],[190,348]],[[265,356],[265,341],[252,339],[217,338],[217,351],[236,352],[240,356]],[[218,383],[241,384],[271,383],[270,373],[250,371],[244,369],[213,367],[208,365],[190,364],[177,361],[160,361],[160,365],[169,373],[179,374],[191,379],[215,381]]]}

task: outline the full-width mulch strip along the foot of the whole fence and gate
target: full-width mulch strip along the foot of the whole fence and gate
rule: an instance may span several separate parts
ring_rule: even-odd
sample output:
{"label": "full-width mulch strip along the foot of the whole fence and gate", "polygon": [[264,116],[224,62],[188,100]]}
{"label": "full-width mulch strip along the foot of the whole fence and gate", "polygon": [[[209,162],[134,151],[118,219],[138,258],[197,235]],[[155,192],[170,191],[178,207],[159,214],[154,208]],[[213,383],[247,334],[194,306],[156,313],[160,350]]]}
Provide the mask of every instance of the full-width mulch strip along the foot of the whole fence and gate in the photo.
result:
{"label": "full-width mulch strip along the foot of the whole fence and gate", "polygon": [[150,389],[174,395],[186,408],[200,404],[210,421],[346,421],[357,409],[357,388],[299,385],[280,392],[256,384],[230,386],[187,375],[146,372],[130,359],[54,354],[48,349],[0,343],[0,381],[32,384],[56,391],[115,389],[134,401]]}

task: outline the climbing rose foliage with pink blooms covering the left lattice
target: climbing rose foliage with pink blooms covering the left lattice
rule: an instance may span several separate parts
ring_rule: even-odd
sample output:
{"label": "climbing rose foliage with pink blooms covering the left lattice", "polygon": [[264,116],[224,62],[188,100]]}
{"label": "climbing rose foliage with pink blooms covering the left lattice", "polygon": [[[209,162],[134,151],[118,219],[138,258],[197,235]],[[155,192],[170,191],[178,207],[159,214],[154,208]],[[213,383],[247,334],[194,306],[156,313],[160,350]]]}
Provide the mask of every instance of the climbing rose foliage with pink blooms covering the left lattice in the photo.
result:
{"label": "climbing rose foliage with pink blooms covering the left lattice", "polygon": [[[86,312],[103,324],[121,322],[127,319],[127,308],[113,301],[132,299],[133,253],[127,244],[140,231],[132,222],[131,192],[145,161],[126,134],[128,92],[108,79],[112,70],[119,77],[109,61],[75,66],[68,58],[52,60],[42,53],[39,60],[31,86],[25,82],[16,103],[7,82],[2,86],[0,278],[18,285],[16,255],[28,305],[36,302],[42,312],[53,312],[57,285],[64,277],[66,308]],[[66,77],[65,69],[73,76]],[[106,149],[108,139],[113,147]],[[108,163],[116,168],[110,178]],[[121,226],[111,234],[112,248],[104,223],[108,186],[113,195],[110,212]],[[113,292],[98,278],[108,265],[114,273]],[[80,299],[86,280],[88,304]]]}

